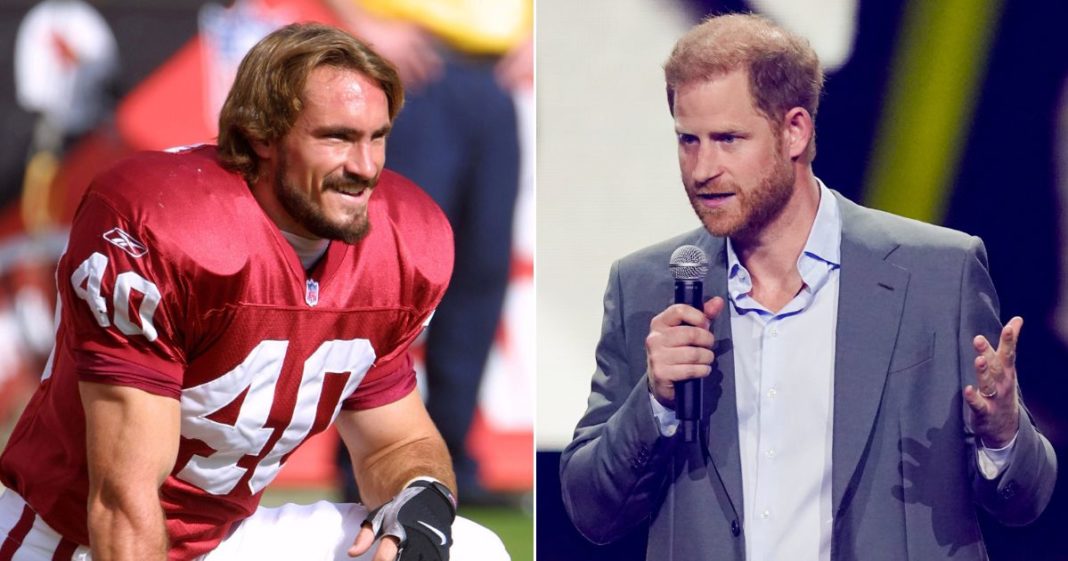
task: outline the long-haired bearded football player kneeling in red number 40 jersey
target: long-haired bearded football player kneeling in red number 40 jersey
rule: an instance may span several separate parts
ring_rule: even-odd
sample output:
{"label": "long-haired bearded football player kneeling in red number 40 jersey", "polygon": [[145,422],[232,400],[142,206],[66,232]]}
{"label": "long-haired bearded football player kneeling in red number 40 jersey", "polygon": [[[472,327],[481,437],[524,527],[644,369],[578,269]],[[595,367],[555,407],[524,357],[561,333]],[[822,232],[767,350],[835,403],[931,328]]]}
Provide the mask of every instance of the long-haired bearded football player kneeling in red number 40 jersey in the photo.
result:
{"label": "long-haired bearded football player kneeling in red number 40 jersey", "polygon": [[[56,349],[0,456],[0,560],[507,559],[456,518],[415,391],[408,347],[453,245],[383,169],[403,98],[350,35],[288,26],[242,61],[218,146],[94,181]],[[331,423],[363,504],[258,508]]]}

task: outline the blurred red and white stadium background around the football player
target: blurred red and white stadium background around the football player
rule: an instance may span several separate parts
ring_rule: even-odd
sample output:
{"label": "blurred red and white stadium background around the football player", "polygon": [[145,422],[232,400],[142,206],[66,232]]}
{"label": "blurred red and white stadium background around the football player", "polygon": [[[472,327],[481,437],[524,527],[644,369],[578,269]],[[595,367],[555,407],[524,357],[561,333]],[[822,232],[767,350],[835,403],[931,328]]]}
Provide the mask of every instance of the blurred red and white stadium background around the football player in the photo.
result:
{"label": "blurred red and white stadium background around the football player", "polygon": [[[356,0],[354,0],[356,1]],[[0,4],[0,445],[51,347],[53,266],[89,180],[139,150],[210,142],[244,52],[319,0],[4,0]],[[468,448],[511,500],[461,507],[533,559],[533,96],[518,92],[521,184],[512,282]],[[388,162],[387,162],[388,165]],[[336,435],[286,464],[265,503],[336,498]],[[462,490],[461,490],[462,496]]]}

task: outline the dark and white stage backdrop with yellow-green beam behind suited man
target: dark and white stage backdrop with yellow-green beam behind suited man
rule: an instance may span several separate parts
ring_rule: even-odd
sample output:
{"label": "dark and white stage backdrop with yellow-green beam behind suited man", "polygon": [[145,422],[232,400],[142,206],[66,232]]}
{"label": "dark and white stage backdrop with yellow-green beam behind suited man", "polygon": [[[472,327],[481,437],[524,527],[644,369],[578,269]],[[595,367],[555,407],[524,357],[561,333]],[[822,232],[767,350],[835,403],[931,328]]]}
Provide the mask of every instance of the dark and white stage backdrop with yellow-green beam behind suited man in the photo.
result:
{"label": "dark and white stage backdrop with yellow-green beam behind suited man", "polygon": [[708,13],[754,11],[828,67],[817,175],[870,206],[980,236],[1003,320],[1026,320],[1019,372],[1061,458],[1027,528],[984,519],[990,558],[1068,559],[1068,3],[1059,0],[539,0],[537,551],[644,559],[644,529],[594,547],[560,499],[560,451],[585,409],[611,262],[695,228],[661,64]]}

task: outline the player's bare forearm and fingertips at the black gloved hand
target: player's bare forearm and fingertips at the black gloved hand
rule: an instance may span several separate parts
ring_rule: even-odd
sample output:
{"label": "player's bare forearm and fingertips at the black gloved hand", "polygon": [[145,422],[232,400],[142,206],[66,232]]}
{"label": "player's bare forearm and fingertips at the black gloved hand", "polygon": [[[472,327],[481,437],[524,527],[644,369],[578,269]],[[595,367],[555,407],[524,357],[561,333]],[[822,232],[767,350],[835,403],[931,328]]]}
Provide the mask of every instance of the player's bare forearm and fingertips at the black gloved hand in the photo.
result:
{"label": "player's bare forearm and fingertips at the black gloved hand", "polygon": [[[374,409],[343,410],[336,426],[352,456],[360,495],[368,509],[389,508],[387,503],[402,492],[400,497],[410,493],[411,487],[405,485],[420,477],[434,478],[449,489],[456,488],[449,451],[418,392]],[[435,524],[442,526],[440,523],[430,526]],[[449,534],[447,527],[435,530]],[[366,551],[376,533],[378,528],[364,527],[349,555]],[[389,535],[381,540],[375,561],[395,559],[397,544]]]}

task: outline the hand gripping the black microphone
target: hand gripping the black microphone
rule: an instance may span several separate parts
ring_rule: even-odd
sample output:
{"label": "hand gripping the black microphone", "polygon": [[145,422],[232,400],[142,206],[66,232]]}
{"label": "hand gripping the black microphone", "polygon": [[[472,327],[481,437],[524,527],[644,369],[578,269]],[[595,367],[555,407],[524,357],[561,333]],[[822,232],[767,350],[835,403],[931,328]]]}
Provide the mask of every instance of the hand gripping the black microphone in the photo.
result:
{"label": "hand gripping the black microphone", "polygon": [[723,298],[705,302],[704,310],[685,303],[670,306],[649,323],[645,338],[649,391],[664,407],[675,408],[675,383],[703,378],[712,371],[711,321],[723,311]]}

